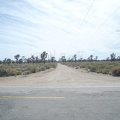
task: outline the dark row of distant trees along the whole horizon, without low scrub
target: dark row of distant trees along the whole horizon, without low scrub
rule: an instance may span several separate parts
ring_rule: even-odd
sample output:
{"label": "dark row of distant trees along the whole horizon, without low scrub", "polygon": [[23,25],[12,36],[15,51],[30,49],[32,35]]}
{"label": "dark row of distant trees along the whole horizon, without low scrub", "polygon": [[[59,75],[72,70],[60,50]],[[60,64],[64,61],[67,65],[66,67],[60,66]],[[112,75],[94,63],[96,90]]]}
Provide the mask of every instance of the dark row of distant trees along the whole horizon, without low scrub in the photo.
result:
{"label": "dark row of distant trees along the whole horizon, without low scrub", "polygon": [[[46,63],[46,62],[56,62],[55,57],[52,56],[50,59],[46,59],[48,57],[48,53],[46,51],[43,51],[40,56],[34,56],[31,55],[29,58],[26,58],[25,56],[20,56],[20,54],[17,54],[14,56],[15,60],[12,60],[10,58],[5,58],[3,61],[0,60],[0,64],[11,64],[11,63],[17,63],[17,64],[21,64],[21,63]],[[72,58],[68,58],[66,59],[65,55],[61,56],[61,58],[59,59],[59,62],[81,62],[81,61],[99,61],[98,60],[98,56],[93,56],[90,55],[87,59],[77,59],[77,54],[74,54]],[[104,60],[101,61],[120,61],[120,56],[116,56],[115,53],[110,54],[109,57],[107,57]]]}

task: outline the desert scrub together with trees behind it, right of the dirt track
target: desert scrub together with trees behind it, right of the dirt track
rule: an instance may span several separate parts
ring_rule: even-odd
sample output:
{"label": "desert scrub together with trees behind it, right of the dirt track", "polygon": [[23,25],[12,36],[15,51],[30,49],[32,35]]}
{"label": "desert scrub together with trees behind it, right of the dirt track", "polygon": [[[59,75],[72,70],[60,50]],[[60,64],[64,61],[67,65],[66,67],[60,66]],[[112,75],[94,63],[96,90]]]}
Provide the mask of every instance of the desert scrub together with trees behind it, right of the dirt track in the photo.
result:
{"label": "desert scrub together with trees behind it, right of the dirt track", "polygon": [[83,68],[88,72],[120,76],[120,56],[116,56],[115,53],[111,53],[106,59],[99,60],[98,56],[94,57],[93,55],[90,55],[87,59],[83,59],[83,51],[81,51],[79,52],[79,59],[77,59],[77,54],[74,54],[68,60],[65,56],[62,56],[60,62],[76,69]]}

